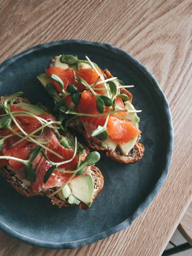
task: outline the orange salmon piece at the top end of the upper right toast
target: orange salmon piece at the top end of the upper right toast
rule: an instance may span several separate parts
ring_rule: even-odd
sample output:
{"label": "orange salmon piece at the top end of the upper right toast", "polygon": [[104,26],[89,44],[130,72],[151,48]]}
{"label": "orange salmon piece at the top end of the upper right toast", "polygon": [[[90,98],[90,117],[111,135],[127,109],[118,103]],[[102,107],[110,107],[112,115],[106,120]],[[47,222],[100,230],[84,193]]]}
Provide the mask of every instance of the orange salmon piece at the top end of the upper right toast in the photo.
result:
{"label": "orange salmon piece at the top end of the upper right toast", "polygon": [[[63,69],[63,68],[58,68],[58,67],[51,67],[45,70],[45,72],[47,73],[47,75],[49,77],[51,77],[52,74],[55,74],[57,76],[59,76],[61,78],[61,80],[64,83],[64,90],[66,90],[67,86],[70,84],[75,83],[74,81],[74,75],[73,75],[73,68],[67,68],[67,69]],[[74,70],[76,75],[81,76],[89,85],[93,84],[97,78],[98,78],[98,74],[95,70],[91,70],[91,68],[85,68],[82,70]],[[101,70],[98,69],[100,76],[104,79],[103,74],[101,73]],[[99,79],[99,81],[101,81],[101,78]],[[55,85],[56,89],[58,92],[62,92],[60,86],[58,85],[57,82],[53,81],[53,84]],[[103,88],[103,84],[101,85],[97,85],[95,86],[96,88]],[[77,82],[77,88],[78,91],[81,92],[83,90],[86,89],[86,87],[84,85],[82,85],[81,83]],[[104,95],[104,91],[97,91],[98,94]]]}

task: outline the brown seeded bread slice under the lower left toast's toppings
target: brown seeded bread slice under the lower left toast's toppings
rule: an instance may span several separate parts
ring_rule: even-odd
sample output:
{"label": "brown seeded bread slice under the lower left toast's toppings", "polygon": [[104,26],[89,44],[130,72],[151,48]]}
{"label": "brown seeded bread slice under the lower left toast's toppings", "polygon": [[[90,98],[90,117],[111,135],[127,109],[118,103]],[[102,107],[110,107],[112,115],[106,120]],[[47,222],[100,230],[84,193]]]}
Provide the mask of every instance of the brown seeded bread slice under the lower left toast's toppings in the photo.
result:
{"label": "brown seeded bread slice under the lower left toast's toppings", "polygon": [[[0,98],[0,105],[1,105],[2,101],[5,100],[5,98],[6,98],[6,96],[2,96]],[[31,104],[31,102],[25,97],[17,97],[17,98],[15,98],[14,102],[15,103],[24,102],[24,103]],[[38,108],[41,108],[42,110],[44,110],[48,113],[51,113],[50,109],[47,106],[42,105],[41,103],[37,104],[36,106],[38,106]],[[61,134],[62,134],[62,131],[61,131]],[[62,134],[62,135],[65,135],[66,137],[73,138],[73,136],[70,135],[70,133]],[[88,148],[84,145],[83,145],[83,147],[86,150],[86,153],[89,154]],[[16,173],[14,171],[8,169],[8,166],[4,166],[3,168],[0,168],[0,173],[6,178],[8,183],[10,183],[13,186],[13,188],[15,188],[15,190],[17,190],[20,194],[27,196],[27,197],[38,196],[38,195],[49,197],[51,193],[56,191],[56,188],[50,188],[50,189],[47,189],[46,191],[33,192],[30,189],[30,186],[27,186],[26,184],[24,184],[22,182],[22,180],[20,180],[18,178],[18,176],[16,175]],[[92,176],[93,183],[94,183],[94,194],[93,194],[93,198],[92,198],[92,201],[93,201],[96,198],[96,196],[98,195],[98,193],[103,189],[104,179],[103,179],[103,175],[102,175],[101,171],[94,165],[91,166],[90,175]],[[59,207],[74,205],[74,204],[68,203],[67,199],[65,199],[65,198],[60,199],[58,194],[56,194],[55,196],[51,196],[50,199],[51,199],[52,204],[56,204]],[[89,206],[81,201],[79,203],[79,208],[83,208],[83,209],[87,210],[87,209],[89,209]]]}

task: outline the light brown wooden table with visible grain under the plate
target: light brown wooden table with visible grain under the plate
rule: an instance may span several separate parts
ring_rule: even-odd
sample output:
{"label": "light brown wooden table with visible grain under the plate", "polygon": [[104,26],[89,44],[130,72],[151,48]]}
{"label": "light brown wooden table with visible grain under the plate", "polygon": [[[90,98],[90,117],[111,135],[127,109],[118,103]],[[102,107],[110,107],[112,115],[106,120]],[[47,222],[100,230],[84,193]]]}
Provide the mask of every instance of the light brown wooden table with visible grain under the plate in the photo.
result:
{"label": "light brown wooden table with visible grain under the plate", "polygon": [[105,42],[137,58],[169,102],[175,144],[167,180],[129,226],[73,250],[36,248],[0,231],[0,255],[161,255],[191,200],[189,0],[0,0],[0,63],[41,43]]}

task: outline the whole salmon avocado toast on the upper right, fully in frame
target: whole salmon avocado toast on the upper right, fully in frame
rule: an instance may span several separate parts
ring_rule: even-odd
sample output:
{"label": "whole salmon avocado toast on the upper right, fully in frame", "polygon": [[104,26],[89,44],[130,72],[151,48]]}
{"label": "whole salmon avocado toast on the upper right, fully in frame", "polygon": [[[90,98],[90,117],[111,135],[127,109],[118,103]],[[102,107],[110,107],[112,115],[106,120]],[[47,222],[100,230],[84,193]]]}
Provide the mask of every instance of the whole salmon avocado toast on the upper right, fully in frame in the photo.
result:
{"label": "whole salmon avocado toast on the upper right, fully in frame", "polygon": [[119,163],[135,163],[144,153],[139,143],[139,117],[132,94],[117,77],[76,55],[51,58],[46,73],[37,76],[53,96],[55,111],[67,127],[81,133],[88,146],[105,150]]}

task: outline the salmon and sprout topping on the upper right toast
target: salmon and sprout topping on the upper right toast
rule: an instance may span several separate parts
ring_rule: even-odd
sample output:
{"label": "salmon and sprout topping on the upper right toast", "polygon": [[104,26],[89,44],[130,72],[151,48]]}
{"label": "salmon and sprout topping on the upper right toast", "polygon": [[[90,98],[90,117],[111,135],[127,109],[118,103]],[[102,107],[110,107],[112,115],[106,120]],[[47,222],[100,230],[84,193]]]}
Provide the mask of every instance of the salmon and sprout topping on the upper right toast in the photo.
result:
{"label": "salmon and sprout topping on the upper right toast", "polygon": [[[86,59],[84,62],[90,65],[90,68],[86,66],[84,69],[76,70],[78,66],[70,66],[66,69],[50,67],[45,70],[59,93],[55,110],[65,113],[65,128],[80,116],[87,136],[92,140],[105,141],[109,137],[114,143],[121,145],[137,138],[141,131],[132,125],[132,120],[127,118],[125,112],[141,111],[125,108],[124,101],[129,98],[126,94],[120,93],[121,88],[133,86],[119,84],[116,77],[105,79],[98,66],[88,57]],[[60,62],[74,65],[83,61],[78,60],[76,55],[61,55]],[[50,87],[46,85],[49,93]],[[56,95],[55,88],[52,87],[54,92],[50,94]],[[71,101],[74,105],[71,105]],[[118,134],[118,137],[115,134]]]}

